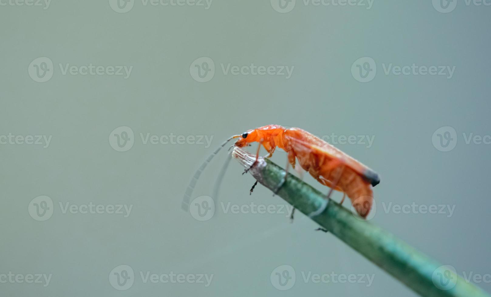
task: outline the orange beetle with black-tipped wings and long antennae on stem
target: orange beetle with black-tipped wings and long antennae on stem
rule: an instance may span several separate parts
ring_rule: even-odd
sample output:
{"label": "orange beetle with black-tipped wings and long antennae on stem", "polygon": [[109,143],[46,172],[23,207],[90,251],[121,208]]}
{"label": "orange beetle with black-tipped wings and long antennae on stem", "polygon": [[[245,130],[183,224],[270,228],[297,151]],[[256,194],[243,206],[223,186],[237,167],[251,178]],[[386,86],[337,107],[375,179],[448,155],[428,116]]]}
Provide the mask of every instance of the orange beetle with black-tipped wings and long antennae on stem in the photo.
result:
{"label": "orange beetle with black-tipped wings and long antennae on stem", "polygon": [[[230,137],[207,158],[194,174],[185,198],[189,200],[196,180],[219,149],[234,138],[238,138],[234,145],[236,147],[245,147],[252,142],[258,142],[256,160],[259,158],[261,145],[269,152],[267,157],[273,155],[276,147],[285,150],[288,154],[288,162],[293,168],[295,168],[297,158],[305,171],[308,171],[321,184],[331,188],[327,198],[330,197],[332,190],[341,191],[352,200],[356,212],[361,217],[368,215],[373,203],[372,187],[380,183],[379,175],[315,135],[300,128],[287,129],[280,125],[267,125],[248,130],[242,135]],[[343,196],[341,203],[344,198]]]}

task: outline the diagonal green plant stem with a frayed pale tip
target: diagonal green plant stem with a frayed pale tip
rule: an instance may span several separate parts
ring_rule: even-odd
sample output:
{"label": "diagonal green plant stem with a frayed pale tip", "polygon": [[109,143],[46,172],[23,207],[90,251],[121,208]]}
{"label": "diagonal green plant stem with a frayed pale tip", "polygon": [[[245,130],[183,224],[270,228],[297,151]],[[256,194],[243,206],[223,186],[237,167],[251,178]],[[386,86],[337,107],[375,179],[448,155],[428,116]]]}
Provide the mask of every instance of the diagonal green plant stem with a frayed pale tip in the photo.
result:
{"label": "diagonal green plant stem with a frayed pale tip", "polygon": [[[241,148],[235,148],[232,155],[246,169],[250,168],[249,173],[272,191],[285,176],[285,171],[270,160],[260,157],[254,163],[255,155]],[[288,174],[277,195],[307,216],[317,212],[317,215],[311,217],[313,221],[421,296],[489,297],[477,286],[465,282],[461,276],[441,267],[433,259],[357,217],[335,201],[328,200],[326,206],[326,194],[294,175]],[[323,211],[319,213],[320,210]],[[438,288],[436,284],[440,278],[443,282]]]}

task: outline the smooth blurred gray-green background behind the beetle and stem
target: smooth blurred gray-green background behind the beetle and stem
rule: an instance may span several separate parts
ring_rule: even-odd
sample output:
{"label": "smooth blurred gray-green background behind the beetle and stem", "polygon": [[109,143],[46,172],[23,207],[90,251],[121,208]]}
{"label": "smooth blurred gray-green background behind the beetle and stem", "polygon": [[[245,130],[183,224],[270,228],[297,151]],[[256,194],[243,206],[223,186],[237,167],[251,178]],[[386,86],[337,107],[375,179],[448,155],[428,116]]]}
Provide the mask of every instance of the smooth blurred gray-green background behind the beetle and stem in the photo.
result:
{"label": "smooth blurred gray-green background behind the beetle and stem", "polygon": [[181,209],[266,124],[373,168],[370,222],[491,292],[489,2],[280,1],[0,1],[1,296],[415,296],[234,162]]}

